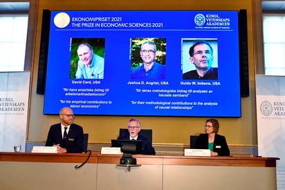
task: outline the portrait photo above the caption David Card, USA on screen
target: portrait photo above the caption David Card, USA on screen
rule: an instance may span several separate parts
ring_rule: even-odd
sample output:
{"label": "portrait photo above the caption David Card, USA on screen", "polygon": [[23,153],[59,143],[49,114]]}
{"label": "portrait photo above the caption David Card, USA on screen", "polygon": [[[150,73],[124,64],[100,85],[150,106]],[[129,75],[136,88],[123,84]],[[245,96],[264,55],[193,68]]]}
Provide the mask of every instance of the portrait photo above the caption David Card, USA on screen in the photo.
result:
{"label": "portrait photo above the caption David Card, USA on screen", "polygon": [[73,39],[70,78],[104,78],[104,39]]}

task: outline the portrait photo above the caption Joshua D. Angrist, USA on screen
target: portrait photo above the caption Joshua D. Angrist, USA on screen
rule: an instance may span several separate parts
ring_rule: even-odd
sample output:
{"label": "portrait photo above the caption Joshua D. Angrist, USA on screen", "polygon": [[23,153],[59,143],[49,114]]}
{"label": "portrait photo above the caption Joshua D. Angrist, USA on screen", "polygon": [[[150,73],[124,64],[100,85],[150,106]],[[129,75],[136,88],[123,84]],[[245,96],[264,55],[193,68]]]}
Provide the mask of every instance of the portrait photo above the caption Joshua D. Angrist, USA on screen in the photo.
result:
{"label": "portrait photo above the caption Joshua D. Angrist, USA on screen", "polygon": [[131,79],[165,79],[166,40],[133,39],[132,43]]}

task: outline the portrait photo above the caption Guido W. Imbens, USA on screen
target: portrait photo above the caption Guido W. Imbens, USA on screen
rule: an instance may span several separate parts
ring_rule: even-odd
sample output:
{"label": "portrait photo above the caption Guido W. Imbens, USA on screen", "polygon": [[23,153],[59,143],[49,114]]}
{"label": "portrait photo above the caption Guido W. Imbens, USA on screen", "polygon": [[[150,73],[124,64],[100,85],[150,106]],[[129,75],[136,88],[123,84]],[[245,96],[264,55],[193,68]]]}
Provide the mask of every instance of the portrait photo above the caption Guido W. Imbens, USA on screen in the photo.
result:
{"label": "portrait photo above the caption Guido W. Imbens, USA on screen", "polygon": [[[188,47],[187,45],[190,44]],[[214,62],[214,48],[217,40],[194,40],[184,42],[183,51],[183,79],[189,80],[217,80],[217,62]],[[217,53],[217,52],[216,52]],[[217,54],[215,54],[217,55]]]}

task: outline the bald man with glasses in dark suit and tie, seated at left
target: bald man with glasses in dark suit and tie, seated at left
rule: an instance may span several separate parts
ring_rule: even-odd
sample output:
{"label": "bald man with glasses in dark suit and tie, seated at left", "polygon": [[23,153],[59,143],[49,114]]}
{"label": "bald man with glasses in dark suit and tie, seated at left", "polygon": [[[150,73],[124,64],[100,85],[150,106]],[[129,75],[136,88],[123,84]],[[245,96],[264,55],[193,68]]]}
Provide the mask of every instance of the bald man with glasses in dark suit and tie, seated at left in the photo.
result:
{"label": "bald man with glasses in dark suit and tie, seated at left", "polygon": [[83,128],[73,123],[73,110],[63,107],[59,112],[59,118],[61,123],[50,126],[46,146],[56,146],[57,153],[82,153]]}

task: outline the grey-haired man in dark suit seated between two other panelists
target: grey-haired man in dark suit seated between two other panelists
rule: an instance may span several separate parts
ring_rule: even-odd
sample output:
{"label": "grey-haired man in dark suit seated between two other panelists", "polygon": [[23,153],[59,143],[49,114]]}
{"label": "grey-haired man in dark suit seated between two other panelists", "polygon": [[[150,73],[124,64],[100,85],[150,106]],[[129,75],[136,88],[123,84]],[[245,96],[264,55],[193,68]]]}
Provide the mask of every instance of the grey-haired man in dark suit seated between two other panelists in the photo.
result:
{"label": "grey-haired man in dark suit seated between two other panelists", "polygon": [[129,135],[118,137],[118,140],[140,140],[143,142],[143,155],[155,155],[156,151],[152,147],[148,137],[140,135],[140,121],[138,119],[130,119],[128,122]]}

